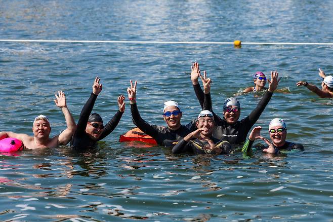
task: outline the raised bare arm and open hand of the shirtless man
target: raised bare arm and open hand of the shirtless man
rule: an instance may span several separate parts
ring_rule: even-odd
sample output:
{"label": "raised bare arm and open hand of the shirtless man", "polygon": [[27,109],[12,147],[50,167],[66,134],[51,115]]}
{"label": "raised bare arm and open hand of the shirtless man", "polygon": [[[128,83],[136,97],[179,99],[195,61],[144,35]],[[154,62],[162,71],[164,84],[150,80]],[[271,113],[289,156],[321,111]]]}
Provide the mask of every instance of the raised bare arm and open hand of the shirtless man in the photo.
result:
{"label": "raised bare arm and open hand of the shirtless man", "polygon": [[76,129],[76,124],[75,124],[74,118],[70,114],[69,109],[67,107],[65,94],[62,91],[59,91],[58,94],[59,95],[56,94],[56,99],[54,100],[54,102],[56,103],[56,105],[58,107],[61,108],[61,110],[65,116],[67,128],[64,131],[62,131],[59,136],[56,136],[54,138],[58,137],[57,138],[58,145],[60,145],[60,144],[66,145],[74,134],[74,131]]}

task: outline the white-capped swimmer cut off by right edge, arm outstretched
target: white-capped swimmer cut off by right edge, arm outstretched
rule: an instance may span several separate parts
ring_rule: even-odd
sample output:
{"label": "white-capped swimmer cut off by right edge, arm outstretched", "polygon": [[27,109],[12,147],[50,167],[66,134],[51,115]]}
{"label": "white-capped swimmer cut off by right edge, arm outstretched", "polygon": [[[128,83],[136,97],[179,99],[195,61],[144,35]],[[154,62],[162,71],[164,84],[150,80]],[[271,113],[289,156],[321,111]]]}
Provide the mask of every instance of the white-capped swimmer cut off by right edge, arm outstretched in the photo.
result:
{"label": "white-capped swimmer cut off by right edge, arm outstretched", "polygon": [[321,89],[316,87],[315,85],[312,85],[308,82],[300,81],[296,85],[297,86],[305,86],[315,94],[317,94],[320,98],[332,98],[333,97],[333,77],[332,76],[326,76],[325,72],[323,72],[319,68],[319,76],[323,79],[321,82]]}

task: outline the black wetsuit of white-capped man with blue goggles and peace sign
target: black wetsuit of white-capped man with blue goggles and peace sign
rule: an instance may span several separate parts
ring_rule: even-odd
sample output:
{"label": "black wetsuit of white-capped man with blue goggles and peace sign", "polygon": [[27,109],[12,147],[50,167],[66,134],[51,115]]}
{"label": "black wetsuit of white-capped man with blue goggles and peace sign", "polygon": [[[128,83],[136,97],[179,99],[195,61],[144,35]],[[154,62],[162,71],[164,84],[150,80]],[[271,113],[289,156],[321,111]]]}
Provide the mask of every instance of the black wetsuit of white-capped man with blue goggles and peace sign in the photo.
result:
{"label": "black wetsuit of white-capped man with blue goggles and peace sign", "polygon": [[193,132],[195,127],[195,120],[187,124],[181,125],[177,130],[171,130],[169,127],[156,126],[144,121],[138,110],[137,103],[131,104],[131,112],[133,123],[142,130],[142,132],[153,137],[157,144],[161,146],[174,146],[179,140],[187,136],[190,132]]}

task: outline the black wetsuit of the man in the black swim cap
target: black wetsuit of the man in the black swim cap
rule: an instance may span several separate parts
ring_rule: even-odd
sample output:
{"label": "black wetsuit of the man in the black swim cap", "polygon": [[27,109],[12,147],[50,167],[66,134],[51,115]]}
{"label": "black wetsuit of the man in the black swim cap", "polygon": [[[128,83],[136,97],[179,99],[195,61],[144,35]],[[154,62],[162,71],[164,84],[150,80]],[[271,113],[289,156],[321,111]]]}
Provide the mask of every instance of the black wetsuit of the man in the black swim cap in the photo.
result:
{"label": "black wetsuit of the man in the black swim cap", "polygon": [[103,132],[100,135],[100,137],[97,140],[93,140],[89,137],[89,135],[86,133],[86,127],[88,124],[89,115],[91,114],[95,101],[96,101],[97,95],[92,93],[84,105],[84,107],[81,110],[80,117],[77,122],[76,130],[74,132],[74,135],[72,137],[72,140],[70,141],[70,145],[72,148],[76,151],[85,150],[88,148],[93,148],[96,146],[96,142],[103,139],[107,135],[109,135],[114,128],[118,125],[121,116],[123,113],[120,112],[118,109],[118,112],[112,117],[112,119],[104,126]]}

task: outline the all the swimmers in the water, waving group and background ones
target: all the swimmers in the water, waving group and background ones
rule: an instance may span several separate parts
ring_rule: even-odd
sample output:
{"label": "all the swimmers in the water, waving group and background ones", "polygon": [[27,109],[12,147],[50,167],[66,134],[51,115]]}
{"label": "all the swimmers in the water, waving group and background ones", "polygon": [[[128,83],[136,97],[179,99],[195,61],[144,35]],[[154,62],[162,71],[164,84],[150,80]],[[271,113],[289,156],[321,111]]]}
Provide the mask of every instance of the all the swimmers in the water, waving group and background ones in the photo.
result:
{"label": "all the swimmers in the water, waving group and background ones", "polygon": [[[141,118],[136,100],[137,81],[133,83],[131,80],[127,92],[133,123],[144,133],[154,138],[158,145],[171,147],[172,152],[175,154],[184,152],[230,154],[237,149],[241,149],[243,153],[251,154],[252,145],[257,139],[262,139],[267,144],[263,149],[263,152],[266,153],[278,154],[292,150],[303,151],[304,147],[302,144],[286,141],[287,126],[280,118],[273,119],[268,126],[270,140],[261,136],[261,126],[255,127],[247,137],[248,132],[259,119],[273,92],[276,90],[280,81],[278,76],[277,71],[272,71],[271,78],[268,80],[263,72],[255,73],[255,86],[246,88],[244,92],[263,90],[266,92],[257,107],[247,117],[239,120],[240,103],[233,97],[225,99],[223,117],[219,117],[214,113],[212,107],[210,94],[212,80],[207,78],[205,71],[201,75],[199,64],[195,62],[191,67],[191,81],[202,110],[197,118],[187,125],[182,125],[182,111],[178,103],[171,100],[164,102],[162,116],[167,125],[166,127],[149,124]],[[321,69],[319,69],[319,76],[323,78],[322,89],[303,81],[298,82],[297,86],[307,87],[320,97],[333,97],[333,77],[326,76]],[[199,78],[202,81],[203,90],[199,85]],[[269,84],[268,88],[265,88],[266,82]],[[33,122],[33,136],[14,132],[0,132],[0,140],[6,137],[20,139],[26,149],[56,147],[66,145],[69,141],[72,149],[76,151],[94,148],[97,145],[97,141],[105,138],[115,129],[125,110],[124,101],[126,98],[120,95],[117,100],[119,107],[117,113],[104,125],[101,116],[97,113],[92,113],[97,96],[101,91],[100,78],[96,77],[93,84],[93,92],[82,108],[77,124],[75,124],[67,108],[65,94],[59,91],[55,95],[56,99],[54,101],[62,109],[67,128],[53,138],[49,137],[51,132],[49,119],[44,115],[39,115]]]}

